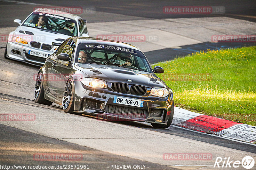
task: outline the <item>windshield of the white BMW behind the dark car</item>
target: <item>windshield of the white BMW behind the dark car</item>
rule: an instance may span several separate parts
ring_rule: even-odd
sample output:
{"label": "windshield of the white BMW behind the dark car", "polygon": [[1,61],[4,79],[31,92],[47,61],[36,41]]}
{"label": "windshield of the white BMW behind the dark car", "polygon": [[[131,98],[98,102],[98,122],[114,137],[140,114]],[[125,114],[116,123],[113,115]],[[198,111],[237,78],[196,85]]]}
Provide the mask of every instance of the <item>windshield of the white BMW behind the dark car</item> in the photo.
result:
{"label": "windshield of the white BMW behind the dark car", "polygon": [[75,20],[54,14],[33,12],[25,20],[22,26],[39,28],[69,36],[77,36],[77,26]]}

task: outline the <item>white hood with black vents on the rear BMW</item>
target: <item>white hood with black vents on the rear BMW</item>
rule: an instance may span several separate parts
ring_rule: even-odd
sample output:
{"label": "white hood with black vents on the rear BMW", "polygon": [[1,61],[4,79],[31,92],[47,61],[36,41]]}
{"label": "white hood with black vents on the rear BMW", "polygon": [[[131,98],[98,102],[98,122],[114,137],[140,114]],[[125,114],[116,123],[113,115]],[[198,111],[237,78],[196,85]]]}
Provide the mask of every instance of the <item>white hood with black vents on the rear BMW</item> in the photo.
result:
{"label": "white hood with black vents on the rear BMW", "polygon": [[18,26],[15,30],[15,36],[20,36],[20,38],[26,39],[29,45],[30,41],[36,41],[40,42],[41,44],[52,45],[52,42],[62,43],[64,40],[70,37],[68,35],[41,30],[38,28],[32,28],[28,26]]}

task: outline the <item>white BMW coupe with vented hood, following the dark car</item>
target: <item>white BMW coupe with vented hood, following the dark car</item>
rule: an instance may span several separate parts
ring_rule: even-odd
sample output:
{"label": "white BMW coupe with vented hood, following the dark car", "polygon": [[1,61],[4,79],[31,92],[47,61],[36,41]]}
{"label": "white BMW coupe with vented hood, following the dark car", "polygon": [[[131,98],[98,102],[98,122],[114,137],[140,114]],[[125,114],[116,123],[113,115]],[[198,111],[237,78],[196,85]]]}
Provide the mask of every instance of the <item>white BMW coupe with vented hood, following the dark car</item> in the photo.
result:
{"label": "white BMW coupe with vented hood, following the dark car", "polygon": [[10,32],[4,57],[29,64],[42,66],[46,57],[56,49],[52,43],[62,43],[69,37],[89,37],[86,20],[60,11],[54,13],[46,9],[36,9],[23,22],[15,19],[20,26]]}

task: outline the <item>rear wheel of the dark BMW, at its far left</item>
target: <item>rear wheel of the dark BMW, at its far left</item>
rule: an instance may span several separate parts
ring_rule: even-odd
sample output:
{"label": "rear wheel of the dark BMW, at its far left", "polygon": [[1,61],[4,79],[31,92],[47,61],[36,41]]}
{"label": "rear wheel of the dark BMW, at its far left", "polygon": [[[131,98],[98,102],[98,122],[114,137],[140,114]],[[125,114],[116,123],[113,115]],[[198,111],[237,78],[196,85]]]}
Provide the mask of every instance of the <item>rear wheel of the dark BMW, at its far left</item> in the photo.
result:
{"label": "rear wheel of the dark BMW, at its far left", "polygon": [[36,76],[36,85],[34,90],[34,101],[36,103],[52,105],[52,102],[44,98],[43,75],[39,72]]}

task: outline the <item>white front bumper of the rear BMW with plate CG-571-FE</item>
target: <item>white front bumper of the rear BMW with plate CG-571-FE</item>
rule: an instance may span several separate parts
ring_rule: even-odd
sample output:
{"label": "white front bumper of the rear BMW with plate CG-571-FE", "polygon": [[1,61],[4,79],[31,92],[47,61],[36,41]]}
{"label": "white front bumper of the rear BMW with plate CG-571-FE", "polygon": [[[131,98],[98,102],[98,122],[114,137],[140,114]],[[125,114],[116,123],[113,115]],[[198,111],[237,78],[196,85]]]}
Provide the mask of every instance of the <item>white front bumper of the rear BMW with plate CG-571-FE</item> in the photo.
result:
{"label": "white front bumper of the rear BMW with plate CG-571-FE", "polygon": [[[26,62],[36,66],[43,66],[46,60],[46,57],[53,53],[52,51],[46,51],[46,50],[32,48],[29,46],[23,46],[20,44],[9,42],[9,41],[7,42],[6,48],[7,48],[7,56],[6,56],[7,58]],[[29,50],[32,50],[38,53],[44,53],[45,57],[39,57],[39,56],[28,54]],[[15,51],[15,53],[13,53],[13,51]]]}

